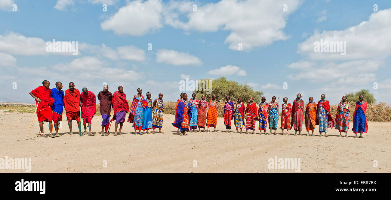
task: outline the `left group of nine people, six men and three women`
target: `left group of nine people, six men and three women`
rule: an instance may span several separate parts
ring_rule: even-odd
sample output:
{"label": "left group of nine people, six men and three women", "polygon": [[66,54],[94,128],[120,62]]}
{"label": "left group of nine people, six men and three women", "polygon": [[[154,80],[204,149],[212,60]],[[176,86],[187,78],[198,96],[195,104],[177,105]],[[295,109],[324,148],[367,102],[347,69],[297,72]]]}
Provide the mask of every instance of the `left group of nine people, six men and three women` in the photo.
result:
{"label": "left group of nine people, six men and three women", "polygon": [[[40,136],[48,137],[43,132],[43,123],[49,123],[49,137],[59,137],[58,134],[59,124],[63,119],[63,108],[66,112],[66,120],[70,130],[70,135],[74,135],[72,131],[72,120],[76,120],[77,126],[80,129],[81,120],[83,119],[84,132],[83,135],[94,136],[91,133],[91,122],[97,112],[96,99],[99,100],[99,111],[102,115],[102,136],[109,135],[109,129],[111,123],[115,120],[115,133],[114,136],[123,135],[121,133],[122,126],[125,122],[126,113],[129,113],[127,122],[133,123],[135,127],[135,135],[151,134],[155,133],[155,129],[163,126],[163,94],[159,94],[158,98],[152,101],[151,93],[147,92],[146,98],[142,95],[142,89],[137,89],[137,94],[133,97],[133,102],[129,110],[129,104],[124,93],[122,86],[118,87],[118,91],[113,94],[109,92],[109,86],[104,85],[102,91],[98,96],[87,88],[83,88],[82,92],[75,88],[75,84],[70,82],[68,84],[69,89],[62,90],[63,84],[56,82],[56,88],[49,89],[50,82],[45,80],[42,82],[42,86],[32,90],[29,94],[36,100],[37,104],[37,117],[40,128]],[[113,117],[111,117],[111,108],[114,110]],[[53,131],[53,122],[55,124],[56,134]],[[86,126],[88,124],[88,133],[86,132]],[[118,130],[118,124],[119,131]],[[149,132],[152,129],[152,132]]]}

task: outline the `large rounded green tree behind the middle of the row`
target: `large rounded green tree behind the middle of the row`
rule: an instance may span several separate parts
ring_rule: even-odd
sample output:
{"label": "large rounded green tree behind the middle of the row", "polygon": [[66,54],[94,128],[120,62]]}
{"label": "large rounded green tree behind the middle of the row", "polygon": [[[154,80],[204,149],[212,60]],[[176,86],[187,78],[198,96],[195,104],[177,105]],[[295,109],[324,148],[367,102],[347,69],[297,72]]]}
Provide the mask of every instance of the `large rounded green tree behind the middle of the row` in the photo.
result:
{"label": "large rounded green tree behind the middle of the row", "polygon": [[[203,83],[205,81],[209,81],[210,79],[201,79],[199,83]],[[262,95],[264,94],[261,91],[256,91],[253,87],[249,86],[247,83],[239,84],[236,81],[227,80],[226,77],[220,77],[215,80],[212,80],[211,94],[206,94],[206,91],[197,91],[196,94],[197,99],[201,99],[201,95],[205,94],[206,99],[212,99],[212,95],[216,95],[217,101],[225,101],[225,97],[227,95],[231,96],[231,101],[237,101],[238,97],[242,98],[242,102],[248,102],[250,97],[254,97],[255,102],[259,102]],[[201,87],[199,87],[201,90]]]}

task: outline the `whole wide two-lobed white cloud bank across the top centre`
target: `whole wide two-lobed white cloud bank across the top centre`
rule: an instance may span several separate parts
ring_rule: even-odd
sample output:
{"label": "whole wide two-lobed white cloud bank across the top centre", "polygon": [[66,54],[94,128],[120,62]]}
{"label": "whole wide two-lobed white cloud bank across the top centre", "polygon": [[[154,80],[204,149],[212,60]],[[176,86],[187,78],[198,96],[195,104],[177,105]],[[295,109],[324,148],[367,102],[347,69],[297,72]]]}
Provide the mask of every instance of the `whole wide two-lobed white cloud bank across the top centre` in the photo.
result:
{"label": "whole wide two-lobed white cloud bank across the top centre", "polygon": [[[229,31],[225,44],[238,50],[268,46],[274,41],[289,38],[283,32],[286,19],[301,5],[301,0],[221,0],[217,3],[199,5],[193,11],[194,2],[161,0],[136,0],[121,7],[117,13],[101,23],[102,30],[113,30],[115,34],[141,36],[170,25],[191,31]],[[287,4],[287,12],[283,5]],[[281,6],[276,6],[281,5]],[[262,20],[260,20],[262,19]]]}

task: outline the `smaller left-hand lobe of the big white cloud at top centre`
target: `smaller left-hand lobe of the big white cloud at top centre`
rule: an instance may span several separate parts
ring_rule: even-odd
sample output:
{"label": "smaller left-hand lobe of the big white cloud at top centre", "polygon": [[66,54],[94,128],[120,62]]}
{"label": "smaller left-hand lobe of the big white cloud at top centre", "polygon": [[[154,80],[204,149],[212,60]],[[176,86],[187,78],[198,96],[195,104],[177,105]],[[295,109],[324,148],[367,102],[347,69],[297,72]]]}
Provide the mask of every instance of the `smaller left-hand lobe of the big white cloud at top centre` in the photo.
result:
{"label": "smaller left-hand lobe of the big white cloud at top centre", "polygon": [[117,13],[100,24],[102,30],[113,30],[115,34],[142,36],[158,30],[161,24],[162,4],[160,0],[135,0],[121,7]]}

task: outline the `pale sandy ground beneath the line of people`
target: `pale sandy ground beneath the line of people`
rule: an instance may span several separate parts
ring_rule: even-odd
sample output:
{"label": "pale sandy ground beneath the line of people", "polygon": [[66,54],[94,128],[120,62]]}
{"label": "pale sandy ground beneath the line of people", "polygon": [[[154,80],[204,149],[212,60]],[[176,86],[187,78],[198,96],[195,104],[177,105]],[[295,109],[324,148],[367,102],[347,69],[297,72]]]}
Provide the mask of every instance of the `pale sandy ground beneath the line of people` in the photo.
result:
{"label": "pale sandy ground beneath the line of people", "polygon": [[[352,132],[349,138],[340,138],[335,129],[329,131],[329,137],[293,136],[293,131],[284,136],[281,130],[278,135],[224,133],[222,118],[218,119],[218,133],[179,136],[170,124],[174,116],[165,114],[165,134],[129,134],[134,129],[125,122],[123,136],[70,136],[64,120],[63,136],[41,138],[36,137],[39,126],[35,117],[25,140],[32,115],[0,112],[0,159],[31,158],[30,173],[295,173],[292,168],[270,169],[268,160],[275,156],[300,158],[300,173],[391,172],[391,123],[387,122],[369,122],[365,139],[353,138]],[[101,130],[101,122],[100,116],[94,117],[93,132]],[[75,121],[73,127],[77,130]],[[376,161],[378,166],[374,167]]]}

